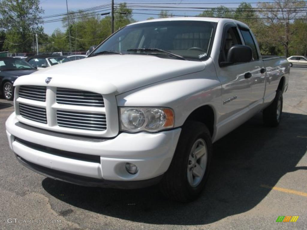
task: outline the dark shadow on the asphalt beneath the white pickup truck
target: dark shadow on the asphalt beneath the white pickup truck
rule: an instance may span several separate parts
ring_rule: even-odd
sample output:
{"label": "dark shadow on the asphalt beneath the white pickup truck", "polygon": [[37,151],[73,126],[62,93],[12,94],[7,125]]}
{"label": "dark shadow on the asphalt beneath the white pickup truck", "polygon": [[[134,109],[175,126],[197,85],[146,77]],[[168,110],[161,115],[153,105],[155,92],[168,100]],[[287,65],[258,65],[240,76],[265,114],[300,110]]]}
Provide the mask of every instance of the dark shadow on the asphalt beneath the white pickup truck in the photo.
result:
{"label": "dark shadow on the asphalt beneath the white pickup truck", "polygon": [[[306,152],[307,116],[283,113],[278,128],[256,115],[214,144],[211,174],[202,196],[181,204],[163,198],[157,187],[140,190],[87,188],[45,178],[44,189],[72,206],[148,224],[210,224],[253,209],[296,167]],[[60,194],[64,194],[60,195]]]}

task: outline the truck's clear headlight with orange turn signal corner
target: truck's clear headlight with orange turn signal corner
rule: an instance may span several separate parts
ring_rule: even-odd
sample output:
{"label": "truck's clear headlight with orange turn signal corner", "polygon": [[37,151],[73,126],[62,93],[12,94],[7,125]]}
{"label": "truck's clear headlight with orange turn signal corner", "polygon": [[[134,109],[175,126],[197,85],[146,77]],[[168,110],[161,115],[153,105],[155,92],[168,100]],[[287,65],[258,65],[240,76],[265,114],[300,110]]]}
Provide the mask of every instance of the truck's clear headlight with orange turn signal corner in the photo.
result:
{"label": "truck's clear headlight with orange turn signal corner", "polygon": [[173,128],[174,112],[169,108],[120,108],[121,130],[157,132]]}

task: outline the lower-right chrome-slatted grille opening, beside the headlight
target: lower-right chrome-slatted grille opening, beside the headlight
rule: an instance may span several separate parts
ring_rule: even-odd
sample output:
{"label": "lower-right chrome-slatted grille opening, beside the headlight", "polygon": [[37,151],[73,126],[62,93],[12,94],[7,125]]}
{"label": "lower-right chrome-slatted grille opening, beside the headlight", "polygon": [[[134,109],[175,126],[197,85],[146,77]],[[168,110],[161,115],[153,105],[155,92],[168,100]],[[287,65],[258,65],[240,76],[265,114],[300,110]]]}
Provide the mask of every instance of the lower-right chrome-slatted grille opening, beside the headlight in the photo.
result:
{"label": "lower-right chrome-slatted grille opening, beside the headlight", "polygon": [[57,110],[57,124],[60,127],[103,131],[107,129],[105,114],[80,113],[72,111]]}

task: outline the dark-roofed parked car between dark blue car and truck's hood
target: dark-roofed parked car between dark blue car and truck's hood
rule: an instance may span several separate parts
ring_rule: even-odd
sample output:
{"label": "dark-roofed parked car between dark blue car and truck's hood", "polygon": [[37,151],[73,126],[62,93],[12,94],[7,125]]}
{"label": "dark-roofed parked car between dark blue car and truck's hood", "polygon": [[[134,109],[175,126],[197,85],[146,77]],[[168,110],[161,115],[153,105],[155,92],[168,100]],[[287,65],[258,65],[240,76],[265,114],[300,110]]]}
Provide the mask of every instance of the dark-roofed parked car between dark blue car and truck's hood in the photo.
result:
{"label": "dark-roofed parked car between dark blue car and truck's hood", "polygon": [[37,69],[43,69],[60,63],[69,62],[71,60],[66,56],[38,55],[27,57],[25,61],[29,62],[32,66],[37,67]]}

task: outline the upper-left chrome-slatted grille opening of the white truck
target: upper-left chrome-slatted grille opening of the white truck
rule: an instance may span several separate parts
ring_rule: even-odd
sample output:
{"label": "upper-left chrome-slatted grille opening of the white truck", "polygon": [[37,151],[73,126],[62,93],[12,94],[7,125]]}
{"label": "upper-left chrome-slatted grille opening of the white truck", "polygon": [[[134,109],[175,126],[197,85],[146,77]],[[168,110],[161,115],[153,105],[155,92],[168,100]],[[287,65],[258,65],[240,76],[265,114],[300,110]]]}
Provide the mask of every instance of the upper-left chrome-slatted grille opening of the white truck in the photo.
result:
{"label": "upper-left chrome-slatted grille opening of the white truck", "polygon": [[35,101],[46,101],[46,87],[45,86],[20,86],[19,97]]}

